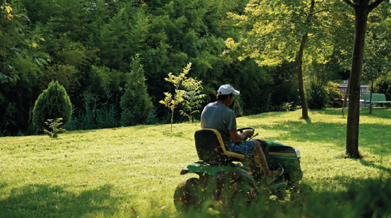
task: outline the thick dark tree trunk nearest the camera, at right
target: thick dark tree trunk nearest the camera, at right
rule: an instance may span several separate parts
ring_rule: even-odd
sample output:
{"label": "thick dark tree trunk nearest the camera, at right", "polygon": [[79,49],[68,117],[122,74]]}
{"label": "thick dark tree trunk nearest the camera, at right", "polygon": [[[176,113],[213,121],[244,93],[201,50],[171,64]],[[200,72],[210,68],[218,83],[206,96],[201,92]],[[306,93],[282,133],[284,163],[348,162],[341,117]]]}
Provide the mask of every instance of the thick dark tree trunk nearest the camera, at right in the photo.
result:
{"label": "thick dark tree trunk nearest the camera, at right", "polygon": [[349,79],[349,109],[346,134],[346,153],[359,157],[358,131],[360,122],[360,83],[363,69],[365,31],[367,28],[368,5],[355,7],[355,35],[353,54],[351,57],[351,73]]}

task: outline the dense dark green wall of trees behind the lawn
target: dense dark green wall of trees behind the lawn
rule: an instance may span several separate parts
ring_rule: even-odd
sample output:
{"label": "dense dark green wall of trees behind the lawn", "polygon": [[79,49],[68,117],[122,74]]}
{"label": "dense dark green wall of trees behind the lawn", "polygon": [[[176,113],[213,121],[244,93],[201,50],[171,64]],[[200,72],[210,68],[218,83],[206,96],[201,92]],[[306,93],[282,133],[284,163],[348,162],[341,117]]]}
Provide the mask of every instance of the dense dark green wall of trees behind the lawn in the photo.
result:
{"label": "dense dark green wall of trees behind the lawn", "polygon": [[[18,16],[11,22],[5,19],[2,10],[2,24],[14,26],[0,27],[2,34],[8,34],[2,39],[11,39],[1,40],[0,51],[6,55],[0,55],[0,62],[1,66],[10,64],[13,74],[7,75],[17,75],[19,79],[1,83],[0,121],[7,125],[1,125],[0,135],[36,132],[30,122],[30,111],[53,79],[65,87],[73,105],[72,120],[66,128],[120,126],[120,100],[131,58],[137,53],[154,105],[148,121],[151,124],[169,122],[167,111],[158,103],[164,98],[163,92],[174,91],[164,78],[170,72],[179,74],[189,62],[193,63],[189,77],[202,80],[204,104],[215,101],[221,84],[231,84],[240,90],[238,101],[244,116],[280,111],[282,102],[300,104],[294,62],[259,67],[250,59],[239,61],[240,51],[222,55],[226,39],[238,40],[246,34],[246,29],[237,28],[227,12],[243,14],[247,0],[13,0],[10,3],[12,13]],[[388,10],[381,12],[385,14]],[[376,16],[383,16],[382,13]],[[11,31],[16,27],[19,32]],[[24,44],[19,43],[21,39]],[[347,54],[341,54],[342,47],[338,47],[343,43],[343,40],[336,43],[332,55],[335,58],[326,64],[305,66],[306,84],[312,80],[326,84],[330,80],[348,79],[347,64],[341,61]],[[175,122],[185,120],[179,113],[174,114]]]}

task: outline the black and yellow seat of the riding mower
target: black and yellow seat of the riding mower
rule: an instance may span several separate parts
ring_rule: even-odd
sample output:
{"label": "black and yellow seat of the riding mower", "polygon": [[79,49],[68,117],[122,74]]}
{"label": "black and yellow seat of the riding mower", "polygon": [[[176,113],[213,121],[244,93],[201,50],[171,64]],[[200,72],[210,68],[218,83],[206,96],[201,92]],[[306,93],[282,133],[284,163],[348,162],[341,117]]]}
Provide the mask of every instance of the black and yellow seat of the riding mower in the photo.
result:
{"label": "black and yellow seat of the riding mower", "polygon": [[204,162],[233,162],[245,159],[243,154],[227,151],[220,133],[216,129],[195,131],[195,148],[199,160]]}

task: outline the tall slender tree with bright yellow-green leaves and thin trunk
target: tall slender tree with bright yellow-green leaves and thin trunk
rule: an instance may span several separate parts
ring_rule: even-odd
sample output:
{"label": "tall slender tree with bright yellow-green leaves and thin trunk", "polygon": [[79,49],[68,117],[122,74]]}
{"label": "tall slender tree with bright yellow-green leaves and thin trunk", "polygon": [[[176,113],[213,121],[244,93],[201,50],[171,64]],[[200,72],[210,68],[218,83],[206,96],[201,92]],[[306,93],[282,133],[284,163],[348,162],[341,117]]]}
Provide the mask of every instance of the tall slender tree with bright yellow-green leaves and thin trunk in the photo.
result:
{"label": "tall slender tree with bright yellow-green leaves and thin trunk", "polygon": [[[243,55],[256,59],[260,66],[278,66],[285,61],[296,61],[302,117],[308,119],[304,95],[303,64],[326,63],[337,37],[344,34],[338,15],[339,1],[316,0],[250,0],[245,15],[229,13],[239,25],[250,26],[250,31],[226,41],[228,48],[243,50]],[[341,31],[342,30],[342,31]],[[337,36],[337,37],[335,37]],[[344,37],[340,37],[344,38]]]}

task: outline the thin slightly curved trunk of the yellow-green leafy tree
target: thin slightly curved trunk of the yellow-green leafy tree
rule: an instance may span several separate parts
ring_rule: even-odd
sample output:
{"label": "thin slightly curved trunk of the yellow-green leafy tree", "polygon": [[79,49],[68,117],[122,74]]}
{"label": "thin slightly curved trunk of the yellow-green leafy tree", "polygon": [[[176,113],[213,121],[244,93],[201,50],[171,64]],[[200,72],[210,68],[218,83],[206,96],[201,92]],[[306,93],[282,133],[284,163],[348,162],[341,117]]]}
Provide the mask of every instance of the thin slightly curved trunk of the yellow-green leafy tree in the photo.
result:
{"label": "thin slightly curved trunk of the yellow-green leafy tree", "polygon": [[[312,13],[314,11],[314,6],[315,6],[315,0],[311,0],[311,6],[309,8],[309,14],[307,17],[306,23],[309,24],[311,23],[311,18],[312,18]],[[308,38],[308,33],[305,33],[302,37],[302,42],[300,44],[300,49],[299,49],[299,54],[297,58],[297,77],[299,81],[299,96],[300,100],[302,102],[302,117],[303,119],[308,119],[308,105],[307,105],[307,100],[305,99],[305,93],[304,93],[304,84],[303,84],[303,53],[304,53],[304,47],[305,47],[305,42]]]}

